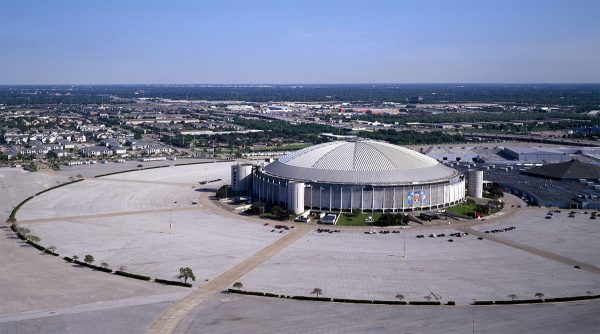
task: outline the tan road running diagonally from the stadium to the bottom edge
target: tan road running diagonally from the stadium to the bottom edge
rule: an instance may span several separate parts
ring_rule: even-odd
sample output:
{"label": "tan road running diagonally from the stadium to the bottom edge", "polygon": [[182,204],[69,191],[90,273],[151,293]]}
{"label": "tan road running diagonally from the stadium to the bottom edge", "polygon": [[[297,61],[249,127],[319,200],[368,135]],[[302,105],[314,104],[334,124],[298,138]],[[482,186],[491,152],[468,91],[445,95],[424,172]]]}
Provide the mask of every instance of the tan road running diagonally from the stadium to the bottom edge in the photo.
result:
{"label": "tan road running diagonally from the stadium to the bottom edge", "polygon": [[179,302],[173,304],[154,320],[154,322],[146,330],[146,333],[173,333],[173,331],[175,331],[177,328],[177,325],[196,306],[200,305],[214,294],[226,289],[227,287],[230,287],[240,277],[244,276],[252,269],[270,259],[275,254],[311,231],[312,228],[308,226],[301,226],[291,230],[285,236],[258,251],[230,270],[219,275],[197,291],[187,295]]}

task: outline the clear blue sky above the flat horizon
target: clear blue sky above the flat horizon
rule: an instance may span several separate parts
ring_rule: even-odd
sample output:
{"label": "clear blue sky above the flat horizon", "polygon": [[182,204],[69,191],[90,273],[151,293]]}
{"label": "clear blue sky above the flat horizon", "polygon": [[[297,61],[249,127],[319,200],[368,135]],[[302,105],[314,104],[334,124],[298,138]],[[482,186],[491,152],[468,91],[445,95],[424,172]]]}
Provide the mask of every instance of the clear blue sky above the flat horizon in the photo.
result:
{"label": "clear blue sky above the flat horizon", "polygon": [[0,84],[598,83],[600,0],[0,0]]}

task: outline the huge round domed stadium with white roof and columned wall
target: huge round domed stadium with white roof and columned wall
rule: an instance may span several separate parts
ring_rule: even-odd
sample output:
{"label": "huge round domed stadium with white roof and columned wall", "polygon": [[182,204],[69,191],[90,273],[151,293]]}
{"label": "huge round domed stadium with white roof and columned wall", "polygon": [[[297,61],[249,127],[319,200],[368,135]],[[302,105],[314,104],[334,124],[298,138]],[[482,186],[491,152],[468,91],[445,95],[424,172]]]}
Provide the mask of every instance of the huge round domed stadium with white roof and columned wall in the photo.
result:
{"label": "huge round domed stadium with white roof and columned wall", "polygon": [[408,148],[356,139],[307,147],[255,167],[249,190],[255,199],[296,214],[306,208],[402,212],[464,201],[465,180]]}

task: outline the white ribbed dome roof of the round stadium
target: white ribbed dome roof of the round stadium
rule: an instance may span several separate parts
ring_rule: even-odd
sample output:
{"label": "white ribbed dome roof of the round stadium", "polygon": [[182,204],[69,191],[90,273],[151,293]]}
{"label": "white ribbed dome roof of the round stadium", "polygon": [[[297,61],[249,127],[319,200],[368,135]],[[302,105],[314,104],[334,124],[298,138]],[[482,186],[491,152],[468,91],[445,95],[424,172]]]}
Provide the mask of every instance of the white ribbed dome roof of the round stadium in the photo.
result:
{"label": "white ribbed dome roof of the round stadium", "polygon": [[407,184],[458,175],[454,169],[405,147],[374,140],[334,141],[290,153],[267,174],[306,182]]}

